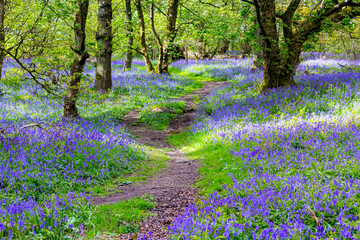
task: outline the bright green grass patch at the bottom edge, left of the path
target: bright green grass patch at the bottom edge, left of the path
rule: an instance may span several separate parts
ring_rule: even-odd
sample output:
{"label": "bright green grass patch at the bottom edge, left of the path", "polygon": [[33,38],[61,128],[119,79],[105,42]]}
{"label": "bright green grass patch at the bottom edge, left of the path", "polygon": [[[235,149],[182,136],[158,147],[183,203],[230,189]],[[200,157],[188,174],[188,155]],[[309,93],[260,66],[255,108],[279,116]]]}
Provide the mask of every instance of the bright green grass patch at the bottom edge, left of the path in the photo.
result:
{"label": "bright green grass patch at the bottom edge, left of the path", "polygon": [[136,233],[139,231],[139,223],[151,216],[154,207],[155,202],[151,196],[99,205],[89,218],[87,239],[93,239],[100,234],[111,237],[121,233]]}

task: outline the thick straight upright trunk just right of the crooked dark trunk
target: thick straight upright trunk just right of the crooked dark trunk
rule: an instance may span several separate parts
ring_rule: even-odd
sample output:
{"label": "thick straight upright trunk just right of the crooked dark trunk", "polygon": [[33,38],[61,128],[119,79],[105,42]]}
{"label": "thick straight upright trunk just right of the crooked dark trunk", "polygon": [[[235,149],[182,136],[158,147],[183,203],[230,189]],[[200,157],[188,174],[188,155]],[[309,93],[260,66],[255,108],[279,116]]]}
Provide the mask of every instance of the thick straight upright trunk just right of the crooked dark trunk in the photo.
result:
{"label": "thick straight upright trunk just right of the crooked dark trunk", "polygon": [[111,0],[98,0],[98,27],[96,33],[97,55],[95,89],[111,89],[112,55],[112,4]]}

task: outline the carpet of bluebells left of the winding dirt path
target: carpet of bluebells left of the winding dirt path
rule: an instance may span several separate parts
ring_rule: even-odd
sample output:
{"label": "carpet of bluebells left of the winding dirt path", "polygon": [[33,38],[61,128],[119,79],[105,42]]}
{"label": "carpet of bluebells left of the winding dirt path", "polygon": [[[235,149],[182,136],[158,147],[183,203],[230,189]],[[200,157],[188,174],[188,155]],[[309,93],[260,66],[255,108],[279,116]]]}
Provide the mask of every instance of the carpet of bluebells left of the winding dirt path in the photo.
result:
{"label": "carpet of bluebells left of the winding dirt path", "polygon": [[[128,173],[145,159],[121,117],[165,102],[194,87],[182,77],[148,75],[143,63],[123,72],[114,62],[114,88],[106,94],[82,86],[81,118],[62,119],[62,101],[5,63],[0,82],[0,239],[60,239],[90,224],[86,189]],[[94,68],[86,66],[88,79]],[[19,75],[20,73],[20,75]]]}

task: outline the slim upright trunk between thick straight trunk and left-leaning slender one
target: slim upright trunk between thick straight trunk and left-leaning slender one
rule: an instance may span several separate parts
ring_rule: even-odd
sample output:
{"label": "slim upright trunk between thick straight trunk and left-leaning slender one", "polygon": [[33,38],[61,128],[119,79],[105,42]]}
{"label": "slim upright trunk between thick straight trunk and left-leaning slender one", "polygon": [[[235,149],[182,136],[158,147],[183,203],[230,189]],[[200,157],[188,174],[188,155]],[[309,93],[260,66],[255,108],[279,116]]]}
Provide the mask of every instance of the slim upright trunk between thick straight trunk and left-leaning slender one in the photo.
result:
{"label": "slim upright trunk between thick straight trunk and left-leaning slender one", "polygon": [[132,47],[134,45],[134,30],[132,27],[132,11],[131,11],[131,0],[125,0],[125,14],[126,14],[126,37],[127,50],[125,53],[124,71],[131,69],[132,64]]}

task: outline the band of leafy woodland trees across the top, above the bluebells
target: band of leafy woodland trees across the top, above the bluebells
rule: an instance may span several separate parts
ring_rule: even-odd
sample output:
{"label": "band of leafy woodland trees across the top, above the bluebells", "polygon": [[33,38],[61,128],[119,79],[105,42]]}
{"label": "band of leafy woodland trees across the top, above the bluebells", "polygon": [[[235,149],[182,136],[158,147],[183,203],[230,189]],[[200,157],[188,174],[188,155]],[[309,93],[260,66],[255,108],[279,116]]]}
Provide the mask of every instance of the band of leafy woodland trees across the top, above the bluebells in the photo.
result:
{"label": "band of leafy woodland trees across the top, above the bluebells", "polygon": [[126,70],[133,56],[142,56],[148,72],[162,74],[168,73],[173,59],[226,58],[234,51],[242,57],[255,54],[265,67],[265,91],[294,84],[302,51],[340,53],[348,59],[359,55],[356,1],[0,4],[0,62],[5,56],[17,61],[34,82],[53,94],[59,87],[54,84],[68,83],[72,90],[64,100],[64,116],[77,115],[74,86],[81,82],[89,60],[97,64],[95,89],[108,90],[112,58],[125,57]]}

